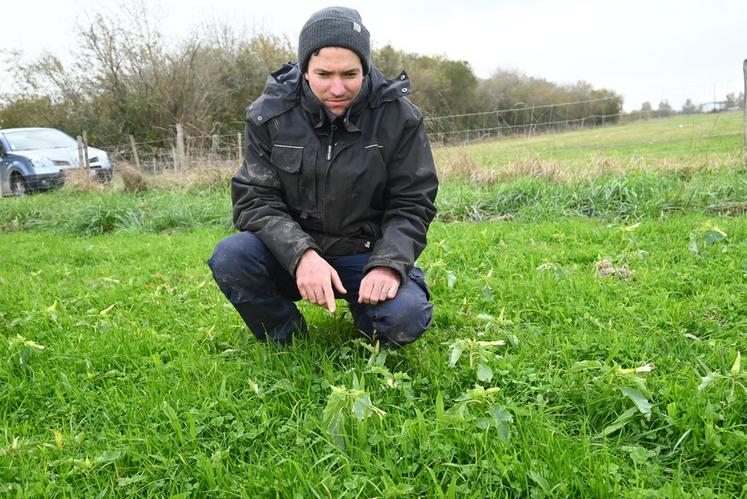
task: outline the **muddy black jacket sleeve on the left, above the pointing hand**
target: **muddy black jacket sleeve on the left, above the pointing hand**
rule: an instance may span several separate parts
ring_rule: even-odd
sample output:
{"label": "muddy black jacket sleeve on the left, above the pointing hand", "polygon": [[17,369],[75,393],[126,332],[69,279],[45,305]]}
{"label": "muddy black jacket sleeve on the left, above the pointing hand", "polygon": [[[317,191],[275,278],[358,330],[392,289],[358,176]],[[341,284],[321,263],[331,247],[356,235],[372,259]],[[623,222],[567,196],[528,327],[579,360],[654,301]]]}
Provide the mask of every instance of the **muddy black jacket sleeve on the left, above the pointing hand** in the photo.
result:
{"label": "muddy black jacket sleeve on the left, above the pointing hand", "polygon": [[288,212],[280,177],[271,162],[267,126],[257,126],[247,119],[244,137],[244,162],[231,180],[233,223],[237,229],[259,237],[278,262],[295,275],[306,250],[321,251]]}

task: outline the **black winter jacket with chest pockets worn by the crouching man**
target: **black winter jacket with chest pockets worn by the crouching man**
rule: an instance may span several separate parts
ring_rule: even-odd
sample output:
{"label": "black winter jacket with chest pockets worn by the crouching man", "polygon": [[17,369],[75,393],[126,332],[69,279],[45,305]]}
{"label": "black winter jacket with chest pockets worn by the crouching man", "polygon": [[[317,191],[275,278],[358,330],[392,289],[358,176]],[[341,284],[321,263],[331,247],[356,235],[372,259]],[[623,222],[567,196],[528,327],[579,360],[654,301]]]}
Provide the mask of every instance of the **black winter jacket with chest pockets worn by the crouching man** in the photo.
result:
{"label": "black winter jacket with chest pockets worn by the crouching man", "polygon": [[233,219],[288,272],[322,256],[372,251],[367,271],[402,282],[426,244],[436,209],[435,166],[407,75],[376,69],[344,116],[313,95],[295,64],[271,74],[247,109],[244,164],[232,180]]}

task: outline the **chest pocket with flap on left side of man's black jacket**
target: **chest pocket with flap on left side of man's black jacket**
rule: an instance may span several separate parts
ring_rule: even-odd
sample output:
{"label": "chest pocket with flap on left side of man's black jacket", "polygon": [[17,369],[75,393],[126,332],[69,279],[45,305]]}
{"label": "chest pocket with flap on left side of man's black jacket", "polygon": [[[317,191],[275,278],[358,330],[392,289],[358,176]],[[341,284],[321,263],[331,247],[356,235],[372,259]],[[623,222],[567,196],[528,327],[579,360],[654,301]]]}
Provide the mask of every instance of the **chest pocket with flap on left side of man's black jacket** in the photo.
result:
{"label": "chest pocket with flap on left side of man's black jacket", "polygon": [[291,213],[306,218],[313,211],[314,185],[308,181],[313,165],[304,165],[304,146],[273,144],[270,161],[277,168],[285,202]]}

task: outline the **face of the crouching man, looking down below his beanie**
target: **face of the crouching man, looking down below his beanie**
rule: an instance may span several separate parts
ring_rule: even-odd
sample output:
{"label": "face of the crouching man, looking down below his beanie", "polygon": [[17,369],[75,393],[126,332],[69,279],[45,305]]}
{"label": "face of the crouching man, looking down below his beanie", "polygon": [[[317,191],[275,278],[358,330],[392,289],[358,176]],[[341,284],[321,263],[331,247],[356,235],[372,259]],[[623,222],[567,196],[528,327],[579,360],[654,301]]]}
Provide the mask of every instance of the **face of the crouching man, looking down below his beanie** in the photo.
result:
{"label": "face of the crouching man, looking down below his beanie", "polygon": [[304,75],[311,91],[335,116],[353,103],[363,85],[363,66],[352,50],[324,47],[312,54]]}

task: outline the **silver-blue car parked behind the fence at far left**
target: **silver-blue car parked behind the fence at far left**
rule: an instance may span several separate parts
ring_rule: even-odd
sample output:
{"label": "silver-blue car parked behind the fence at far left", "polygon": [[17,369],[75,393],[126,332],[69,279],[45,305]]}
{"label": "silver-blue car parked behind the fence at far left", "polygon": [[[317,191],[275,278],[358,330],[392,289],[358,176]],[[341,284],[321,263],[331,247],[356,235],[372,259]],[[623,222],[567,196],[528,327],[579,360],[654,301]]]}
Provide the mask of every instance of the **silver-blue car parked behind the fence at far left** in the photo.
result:
{"label": "silver-blue car parked behind the fence at far left", "polygon": [[[102,182],[112,178],[109,157],[88,147],[92,176]],[[0,181],[3,194],[20,195],[57,187],[65,182],[65,170],[79,168],[78,142],[54,128],[0,129]]]}

